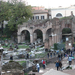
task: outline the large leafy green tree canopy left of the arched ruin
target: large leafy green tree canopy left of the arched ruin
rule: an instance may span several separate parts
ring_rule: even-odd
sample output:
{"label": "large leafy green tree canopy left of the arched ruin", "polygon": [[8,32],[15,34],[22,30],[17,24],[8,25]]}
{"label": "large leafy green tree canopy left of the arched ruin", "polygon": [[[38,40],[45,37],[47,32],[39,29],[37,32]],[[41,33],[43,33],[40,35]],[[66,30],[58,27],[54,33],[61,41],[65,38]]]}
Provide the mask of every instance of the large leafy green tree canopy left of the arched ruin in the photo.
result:
{"label": "large leafy green tree canopy left of the arched ruin", "polygon": [[32,17],[31,6],[26,6],[21,0],[11,0],[8,2],[0,1],[0,23],[4,20],[8,21],[9,30],[13,33],[17,33],[18,25],[22,25],[29,18]]}

